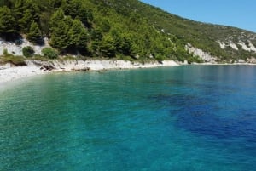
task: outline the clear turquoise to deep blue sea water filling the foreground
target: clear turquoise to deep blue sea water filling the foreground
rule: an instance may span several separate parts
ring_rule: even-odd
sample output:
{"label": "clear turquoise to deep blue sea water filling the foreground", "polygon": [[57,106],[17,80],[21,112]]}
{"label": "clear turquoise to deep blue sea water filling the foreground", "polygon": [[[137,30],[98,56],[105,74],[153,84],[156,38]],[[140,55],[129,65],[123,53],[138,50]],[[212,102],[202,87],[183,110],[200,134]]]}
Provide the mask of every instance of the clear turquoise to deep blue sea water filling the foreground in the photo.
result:
{"label": "clear turquoise to deep blue sea water filling the foreground", "polygon": [[56,73],[2,85],[1,171],[256,170],[256,66]]}

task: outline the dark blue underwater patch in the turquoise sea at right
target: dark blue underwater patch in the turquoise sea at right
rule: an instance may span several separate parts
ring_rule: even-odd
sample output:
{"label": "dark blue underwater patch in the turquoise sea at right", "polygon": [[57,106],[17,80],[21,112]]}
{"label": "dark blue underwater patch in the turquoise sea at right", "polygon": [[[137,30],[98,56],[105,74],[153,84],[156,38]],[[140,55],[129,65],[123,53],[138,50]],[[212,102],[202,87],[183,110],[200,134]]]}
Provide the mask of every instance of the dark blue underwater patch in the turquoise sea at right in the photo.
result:
{"label": "dark blue underwater patch in the turquoise sea at right", "polygon": [[178,128],[218,139],[242,138],[256,143],[256,111],[243,108],[232,111],[211,96],[158,94],[151,98],[170,107]]}

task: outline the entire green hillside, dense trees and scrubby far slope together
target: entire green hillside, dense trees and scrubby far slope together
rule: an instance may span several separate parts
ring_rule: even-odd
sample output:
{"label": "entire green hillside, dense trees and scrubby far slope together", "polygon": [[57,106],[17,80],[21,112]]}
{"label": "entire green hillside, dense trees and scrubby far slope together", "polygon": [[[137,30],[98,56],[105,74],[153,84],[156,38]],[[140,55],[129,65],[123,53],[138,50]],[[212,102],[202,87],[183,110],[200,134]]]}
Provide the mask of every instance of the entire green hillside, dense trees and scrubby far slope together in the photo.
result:
{"label": "entire green hillside, dense trees and scrubby far slope together", "polygon": [[256,47],[253,32],[186,20],[137,0],[1,0],[0,6],[2,39],[44,44],[49,37],[60,54],[201,62],[189,44],[218,60],[256,57],[243,47]]}

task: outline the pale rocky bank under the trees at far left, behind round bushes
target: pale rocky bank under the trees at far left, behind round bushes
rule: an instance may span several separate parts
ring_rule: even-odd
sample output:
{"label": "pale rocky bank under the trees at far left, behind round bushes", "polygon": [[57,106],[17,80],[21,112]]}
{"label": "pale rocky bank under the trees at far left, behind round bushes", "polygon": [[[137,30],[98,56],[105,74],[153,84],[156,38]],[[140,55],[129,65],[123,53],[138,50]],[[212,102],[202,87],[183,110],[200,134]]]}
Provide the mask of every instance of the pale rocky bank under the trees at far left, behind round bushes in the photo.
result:
{"label": "pale rocky bank under the trees at far left, behind round bushes", "polygon": [[23,38],[21,41],[22,43],[18,45],[18,44],[6,42],[6,41],[3,41],[3,39],[0,39],[0,55],[3,55],[3,49],[7,49],[9,54],[22,55],[22,48],[26,46],[31,46],[34,49],[35,54],[42,54],[41,53],[42,49],[49,47],[47,38],[44,38],[44,46],[33,45],[32,43],[28,42],[25,38]]}

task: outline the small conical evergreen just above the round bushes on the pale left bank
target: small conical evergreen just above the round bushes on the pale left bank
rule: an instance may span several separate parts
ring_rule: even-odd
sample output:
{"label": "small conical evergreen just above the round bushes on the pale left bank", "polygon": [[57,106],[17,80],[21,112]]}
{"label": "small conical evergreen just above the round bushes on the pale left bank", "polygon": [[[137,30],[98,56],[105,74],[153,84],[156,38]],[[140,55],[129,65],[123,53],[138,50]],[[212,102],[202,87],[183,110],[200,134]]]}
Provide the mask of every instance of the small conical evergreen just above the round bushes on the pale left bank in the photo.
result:
{"label": "small conical evergreen just above the round bushes on the pale left bank", "polygon": [[32,43],[42,43],[42,34],[39,29],[38,23],[32,22],[26,38]]}

